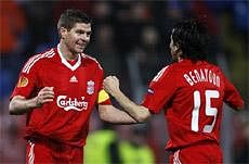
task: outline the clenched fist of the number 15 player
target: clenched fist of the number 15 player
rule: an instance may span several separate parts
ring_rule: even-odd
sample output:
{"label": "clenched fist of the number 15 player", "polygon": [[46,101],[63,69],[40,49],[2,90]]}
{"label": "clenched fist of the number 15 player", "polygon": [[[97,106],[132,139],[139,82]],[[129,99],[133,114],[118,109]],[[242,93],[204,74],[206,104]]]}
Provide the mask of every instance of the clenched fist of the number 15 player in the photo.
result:
{"label": "clenched fist of the number 15 player", "polygon": [[116,76],[108,76],[104,79],[104,89],[106,92],[115,97],[119,89],[119,79]]}

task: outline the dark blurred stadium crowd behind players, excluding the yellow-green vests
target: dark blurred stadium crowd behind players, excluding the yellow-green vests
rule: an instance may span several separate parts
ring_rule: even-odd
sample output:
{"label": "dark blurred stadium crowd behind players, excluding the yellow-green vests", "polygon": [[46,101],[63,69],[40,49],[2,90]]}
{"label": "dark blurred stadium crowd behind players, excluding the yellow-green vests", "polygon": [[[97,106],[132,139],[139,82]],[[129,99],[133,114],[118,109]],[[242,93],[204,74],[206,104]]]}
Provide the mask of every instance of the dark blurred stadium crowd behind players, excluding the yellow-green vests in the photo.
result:
{"label": "dark blurred stadium crowd behind players, excluding the yellow-green vests", "polygon": [[[25,163],[25,116],[9,115],[9,97],[25,61],[57,45],[56,23],[68,8],[81,9],[93,18],[86,52],[97,59],[106,76],[118,76],[123,92],[137,103],[148,81],[171,62],[172,25],[205,15],[212,38],[208,59],[222,67],[248,102],[248,1],[1,0],[0,163]],[[221,134],[224,163],[248,163],[248,111],[238,114],[227,109],[224,108]],[[93,113],[91,131],[103,126],[97,117]],[[168,136],[162,114],[153,116],[146,125],[139,127],[147,131],[143,136],[145,143],[155,153],[156,163],[163,163]]]}

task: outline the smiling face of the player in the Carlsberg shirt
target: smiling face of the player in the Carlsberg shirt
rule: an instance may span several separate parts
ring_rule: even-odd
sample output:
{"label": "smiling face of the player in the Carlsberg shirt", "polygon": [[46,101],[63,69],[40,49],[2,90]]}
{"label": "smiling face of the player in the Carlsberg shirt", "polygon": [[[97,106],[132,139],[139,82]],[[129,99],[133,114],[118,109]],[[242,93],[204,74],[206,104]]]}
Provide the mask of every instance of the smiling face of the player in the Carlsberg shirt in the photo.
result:
{"label": "smiling face of the player in the Carlsberg shirt", "polygon": [[65,45],[73,53],[82,53],[90,41],[91,24],[76,23],[75,26],[66,31]]}

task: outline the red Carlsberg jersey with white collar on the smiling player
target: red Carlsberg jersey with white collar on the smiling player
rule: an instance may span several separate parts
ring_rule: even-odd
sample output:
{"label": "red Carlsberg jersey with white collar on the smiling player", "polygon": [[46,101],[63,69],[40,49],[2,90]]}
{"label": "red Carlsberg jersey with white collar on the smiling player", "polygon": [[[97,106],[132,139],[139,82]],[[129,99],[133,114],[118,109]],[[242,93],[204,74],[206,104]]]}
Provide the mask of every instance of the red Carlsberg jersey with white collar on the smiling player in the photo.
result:
{"label": "red Carlsberg jersey with white collar on the smiling player", "polygon": [[28,113],[27,138],[42,136],[81,147],[94,105],[110,104],[108,94],[103,96],[103,70],[96,60],[81,53],[74,63],[66,61],[58,48],[53,48],[30,58],[24,65],[11,98],[18,94],[29,99],[43,87],[54,87],[55,94],[53,102]]}

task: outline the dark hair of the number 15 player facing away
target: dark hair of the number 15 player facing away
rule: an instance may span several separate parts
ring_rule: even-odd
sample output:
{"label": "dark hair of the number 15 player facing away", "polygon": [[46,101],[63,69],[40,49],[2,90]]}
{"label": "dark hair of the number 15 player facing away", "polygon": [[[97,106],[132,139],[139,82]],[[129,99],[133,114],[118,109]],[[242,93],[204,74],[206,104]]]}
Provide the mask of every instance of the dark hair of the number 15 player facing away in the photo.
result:
{"label": "dark hair of the number 15 player facing away", "polygon": [[172,39],[182,50],[182,58],[193,61],[206,60],[209,35],[205,22],[187,20],[173,27]]}

